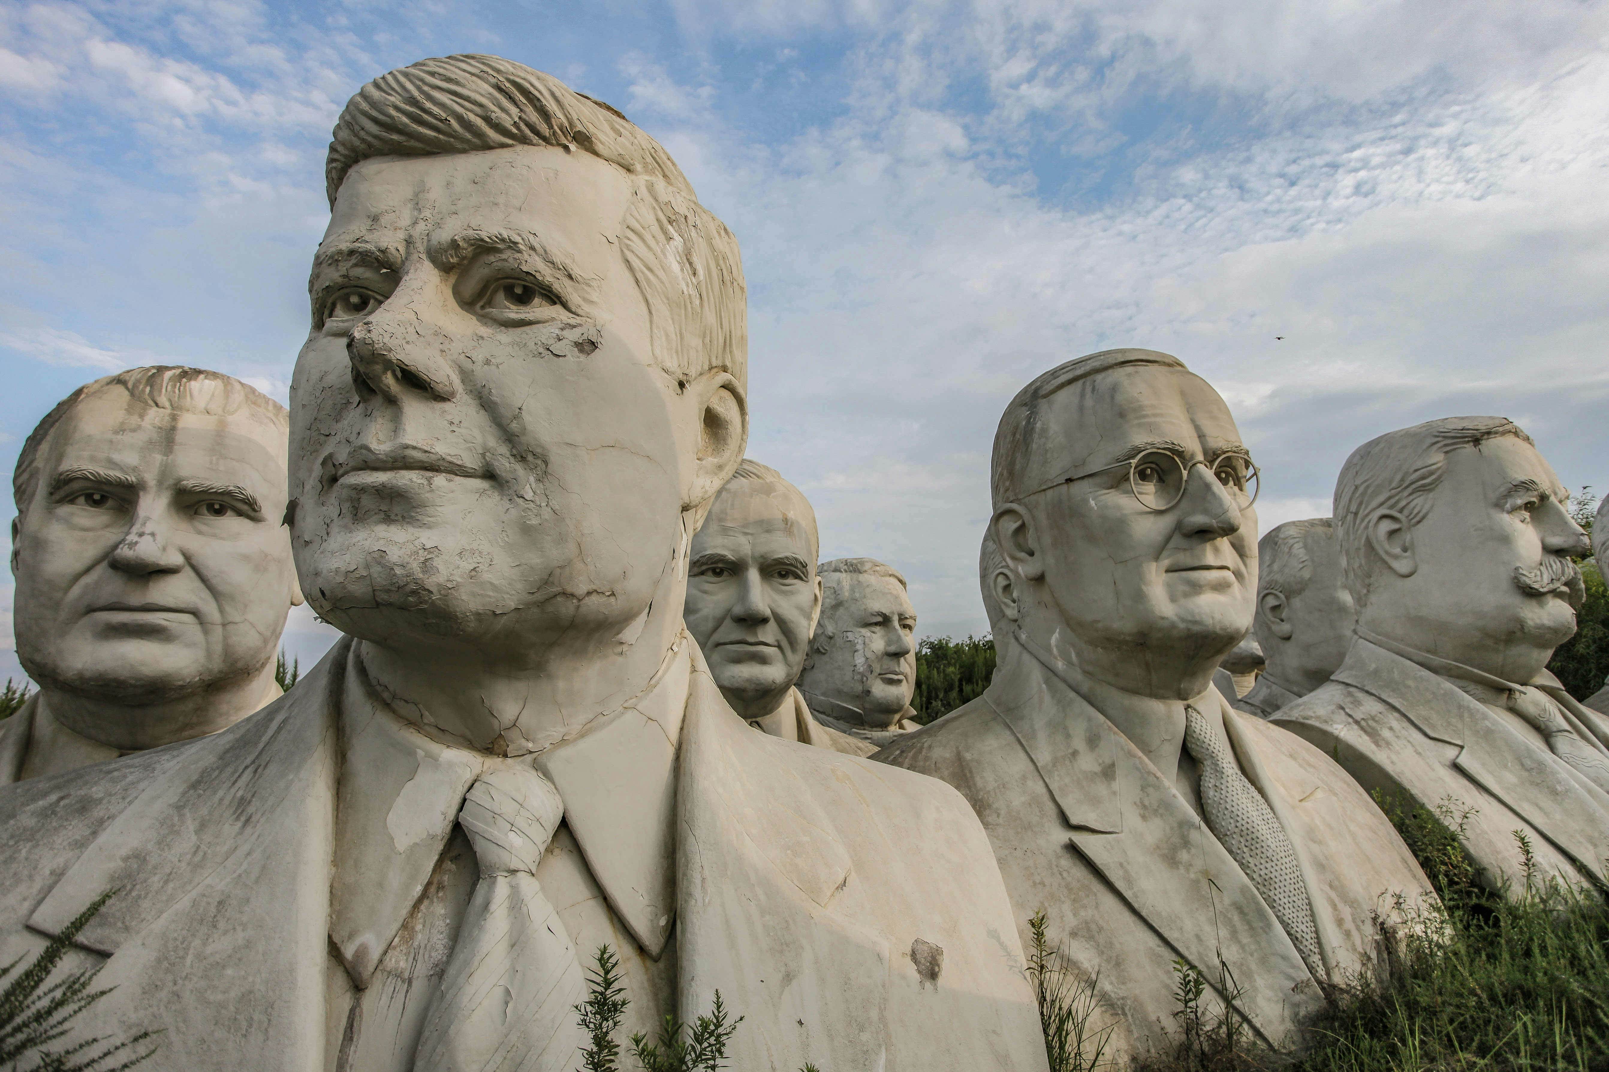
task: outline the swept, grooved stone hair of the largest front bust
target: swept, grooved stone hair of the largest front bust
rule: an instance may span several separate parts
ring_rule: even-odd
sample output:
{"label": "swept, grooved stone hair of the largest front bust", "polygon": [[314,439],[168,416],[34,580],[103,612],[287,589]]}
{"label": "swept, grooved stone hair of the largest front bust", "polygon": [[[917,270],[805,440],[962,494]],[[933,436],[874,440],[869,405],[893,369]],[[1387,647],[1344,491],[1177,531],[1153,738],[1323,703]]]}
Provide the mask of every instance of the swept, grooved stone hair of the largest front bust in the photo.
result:
{"label": "swept, grooved stone hair of the largest front bust", "polygon": [[698,204],[665,148],[623,114],[499,56],[422,59],[365,85],[335,124],[330,204],[375,156],[447,156],[512,146],[581,149],[632,180],[621,256],[648,305],[653,360],[677,383],[721,370],[747,387],[748,313],[732,231]]}

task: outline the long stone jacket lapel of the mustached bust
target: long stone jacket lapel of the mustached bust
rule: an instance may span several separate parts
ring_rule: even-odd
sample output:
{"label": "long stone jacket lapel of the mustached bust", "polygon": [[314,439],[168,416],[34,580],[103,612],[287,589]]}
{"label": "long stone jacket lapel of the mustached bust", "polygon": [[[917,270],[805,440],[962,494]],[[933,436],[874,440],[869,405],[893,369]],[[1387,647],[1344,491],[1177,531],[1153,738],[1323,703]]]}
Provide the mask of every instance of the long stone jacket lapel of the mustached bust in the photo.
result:
{"label": "long stone jacket lapel of the mustached bust", "polygon": [[1429,738],[1461,746],[1455,767],[1590,874],[1609,860],[1609,800],[1578,784],[1551,752],[1429,670],[1361,636],[1334,680],[1395,707]]}

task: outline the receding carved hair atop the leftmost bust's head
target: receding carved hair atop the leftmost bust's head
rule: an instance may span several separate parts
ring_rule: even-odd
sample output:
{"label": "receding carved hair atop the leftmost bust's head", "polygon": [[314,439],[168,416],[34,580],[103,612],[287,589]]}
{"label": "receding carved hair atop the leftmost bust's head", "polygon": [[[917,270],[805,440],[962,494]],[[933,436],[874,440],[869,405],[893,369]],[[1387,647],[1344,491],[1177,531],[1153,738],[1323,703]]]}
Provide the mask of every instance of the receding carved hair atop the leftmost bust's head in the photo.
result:
{"label": "receding carved hair atop the leftmost bust's head", "polygon": [[66,399],[51,407],[34,431],[23,440],[23,452],[16,456],[16,469],[11,473],[11,498],[16,513],[21,514],[34,501],[39,485],[39,452],[43,450],[50,432],[61,419],[72,411],[79,402],[98,391],[122,387],[129,397],[153,410],[172,410],[175,413],[191,413],[196,416],[235,416],[249,407],[254,413],[267,418],[275,428],[290,431],[290,413],[283,405],[262,394],[251,384],[243,384],[233,376],[214,373],[208,368],[188,368],[183,365],[146,365],[130,368],[116,376],[103,376],[84,384]]}

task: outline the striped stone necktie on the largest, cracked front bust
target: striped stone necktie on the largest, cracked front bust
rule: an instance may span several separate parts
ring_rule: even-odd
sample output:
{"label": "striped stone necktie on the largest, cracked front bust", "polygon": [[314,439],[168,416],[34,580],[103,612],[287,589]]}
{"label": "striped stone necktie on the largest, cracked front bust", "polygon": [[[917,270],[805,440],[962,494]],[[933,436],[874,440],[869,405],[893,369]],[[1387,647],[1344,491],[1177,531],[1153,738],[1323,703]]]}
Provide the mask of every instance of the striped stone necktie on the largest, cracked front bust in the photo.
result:
{"label": "striped stone necktie on the largest, cracked front bust", "polygon": [[586,1035],[586,979],[536,882],[565,804],[533,768],[494,767],[470,786],[459,824],[481,881],[425,1017],[414,1072],[571,1072]]}

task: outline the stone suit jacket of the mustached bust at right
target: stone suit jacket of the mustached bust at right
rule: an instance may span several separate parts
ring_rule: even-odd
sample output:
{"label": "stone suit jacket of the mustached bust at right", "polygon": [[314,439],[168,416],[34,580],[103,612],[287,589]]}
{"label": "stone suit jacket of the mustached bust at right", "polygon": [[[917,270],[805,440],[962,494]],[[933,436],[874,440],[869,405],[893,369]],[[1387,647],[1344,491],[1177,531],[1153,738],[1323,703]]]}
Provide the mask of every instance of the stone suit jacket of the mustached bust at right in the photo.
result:
{"label": "stone suit jacket of the mustached bust at right", "polygon": [[[1601,715],[1551,675],[1535,681],[1577,731],[1606,741]],[[1464,847],[1493,889],[1524,889],[1514,831],[1545,874],[1601,874],[1609,860],[1609,796],[1429,670],[1361,636],[1321,688],[1274,725],[1334,755],[1366,789],[1464,815]],[[1472,810],[1471,810],[1472,808]]]}

